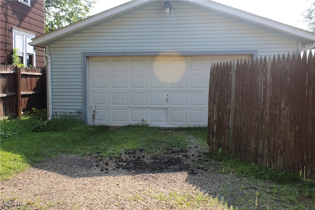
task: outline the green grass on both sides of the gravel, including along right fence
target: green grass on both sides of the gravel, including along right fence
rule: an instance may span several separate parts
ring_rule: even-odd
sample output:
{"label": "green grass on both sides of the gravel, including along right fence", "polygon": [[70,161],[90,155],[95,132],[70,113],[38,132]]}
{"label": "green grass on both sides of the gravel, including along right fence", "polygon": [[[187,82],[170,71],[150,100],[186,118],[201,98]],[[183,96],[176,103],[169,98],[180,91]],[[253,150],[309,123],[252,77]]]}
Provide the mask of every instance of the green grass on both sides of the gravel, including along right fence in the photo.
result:
{"label": "green grass on both sides of the gravel, including along right fence", "polygon": [[[124,126],[112,129],[107,126],[87,126],[80,120],[64,116],[49,121],[36,117],[15,120],[2,120],[0,124],[0,176],[1,180],[10,179],[38,161],[57,157],[62,154],[101,154],[104,157],[116,156],[126,150],[144,149],[151,155],[162,155],[170,150],[185,149],[189,146],[187,136],[197,139],[204,147],[207,129],[176,128],[172,130],[150,127],[146,125]],[[260,202],[265,202],[270,209],[315,209],[315,182],[303,180],[295,175],[272,171],[222,156],[220,152],[207,156],[206,164],[214,164],[218,173],[234,173],[238,177],[252,180],[252,185],[263,187],[266,181],[270,189],[259,192]],[[205,164],[205,163],[204,163]],[[224,191],[225,190],[225,191]],[[246,189],[244,190],[246,193]],[[222,193],[231,193],[228,188]],[[258,193],[258,191],[257,191]],[[189,200],[185,195],[163,197],[163,199],[181,198]],[[199,196],[199,195],[198,195]],[[196,197],[198,197],[196,196]],[[204,195],[205,196],[205,195]],[[277,197],[283,206],[273,206],[270,199]],[[162,199],[162,200],[163,200]],[[203,201],[209,198],[202,197]],[[163,200],[163,201],[164,201]],[[272,200],[272,199],[271,199]],[[237,201],[240,205],[254,201],[246,197]],[[274,208],[273,208],[274,207]]]}

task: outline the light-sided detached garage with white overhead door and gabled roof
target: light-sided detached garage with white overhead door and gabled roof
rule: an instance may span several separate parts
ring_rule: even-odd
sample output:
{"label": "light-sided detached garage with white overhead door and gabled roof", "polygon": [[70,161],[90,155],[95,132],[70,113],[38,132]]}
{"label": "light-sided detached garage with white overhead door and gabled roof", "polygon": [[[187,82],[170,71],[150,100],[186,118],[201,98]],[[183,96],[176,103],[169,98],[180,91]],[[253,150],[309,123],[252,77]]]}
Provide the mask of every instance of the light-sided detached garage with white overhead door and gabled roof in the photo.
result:
{"label": "light-sided detached garage with white overhead door and gabled roof", "polygon": [[164,1],[131,0],[33,38],[45,48],[49,118],[206,126],[211,63],[314,45],[312,32],[215,1],[170,2],[168,15]]}

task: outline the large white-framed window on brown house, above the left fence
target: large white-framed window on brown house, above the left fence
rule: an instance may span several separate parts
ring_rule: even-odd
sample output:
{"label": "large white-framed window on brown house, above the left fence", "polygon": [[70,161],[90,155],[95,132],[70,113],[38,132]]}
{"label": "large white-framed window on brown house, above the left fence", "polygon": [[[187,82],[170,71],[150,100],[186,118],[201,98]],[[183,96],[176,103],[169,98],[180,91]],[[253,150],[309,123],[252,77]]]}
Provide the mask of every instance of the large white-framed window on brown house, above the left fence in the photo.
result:
{"label": "large white-framed window on brown house, above the left fence", "polygon": [[35,63],[35,52],[34,47],[28,43],[32,42],[32,38],[35,37],[34,33],[26,30],[19,30],[16,28],[13,31],[13,48],[17,49],[20,62],[26,66],[34,66]]}

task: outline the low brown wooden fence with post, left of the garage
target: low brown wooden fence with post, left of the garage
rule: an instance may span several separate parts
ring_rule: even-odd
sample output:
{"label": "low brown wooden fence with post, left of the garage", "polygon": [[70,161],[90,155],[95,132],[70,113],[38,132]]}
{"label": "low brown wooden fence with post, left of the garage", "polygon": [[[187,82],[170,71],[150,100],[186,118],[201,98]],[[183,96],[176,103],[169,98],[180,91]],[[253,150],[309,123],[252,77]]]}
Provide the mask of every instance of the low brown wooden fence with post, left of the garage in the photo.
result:
{"label": "low brown wooden fence with post, left of the garage", "polygon": [[32,108],[46,108],[45,67],[0,65],[0,118],[20,117]]}

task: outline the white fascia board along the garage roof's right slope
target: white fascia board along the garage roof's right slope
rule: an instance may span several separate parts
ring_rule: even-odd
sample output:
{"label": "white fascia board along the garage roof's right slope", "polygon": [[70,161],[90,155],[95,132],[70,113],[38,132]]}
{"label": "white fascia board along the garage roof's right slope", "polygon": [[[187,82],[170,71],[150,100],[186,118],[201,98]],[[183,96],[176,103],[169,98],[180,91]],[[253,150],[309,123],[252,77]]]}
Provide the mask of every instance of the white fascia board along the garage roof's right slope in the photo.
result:
{"label": "white fascia board along the garage roof's right slope", "polygon": [[233,16],[244,21],[261,25],[266,28],[270,28],[272,30],[278,30],[296,37],[302,37],[305,39],[315,40],[315,33],[295,28],[293,26],[289,26],[277,21],[270,20],[268,18],[264,18],[258,15],[254,15],[252,13],[236,9],[230,6],[223,5],[221,3],[217,3],[210,0],[187,0],[190,3],[195,5],[203,6],[205,8],[224,13],[229,16]]}

